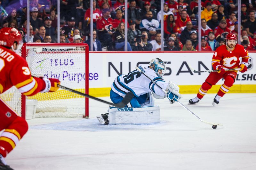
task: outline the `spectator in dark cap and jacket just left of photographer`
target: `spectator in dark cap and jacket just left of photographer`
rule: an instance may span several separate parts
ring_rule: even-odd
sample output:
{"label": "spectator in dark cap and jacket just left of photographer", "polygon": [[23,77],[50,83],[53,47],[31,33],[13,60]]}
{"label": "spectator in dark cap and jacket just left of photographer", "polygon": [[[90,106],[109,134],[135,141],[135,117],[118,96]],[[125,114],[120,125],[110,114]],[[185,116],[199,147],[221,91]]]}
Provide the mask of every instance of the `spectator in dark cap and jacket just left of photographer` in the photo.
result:
{"label": "spectator in dark cap and jacket just left of photographer", "polygon": [[137,35],[141,35],[141,32],[140,30],[135,28],[136,23],[132,19],[129,19],[128,23],[129,23],[129,28],[127,30],[127,39],[132,47],[132,51],[136,51],[136,47],[135,47],[136,37]]}

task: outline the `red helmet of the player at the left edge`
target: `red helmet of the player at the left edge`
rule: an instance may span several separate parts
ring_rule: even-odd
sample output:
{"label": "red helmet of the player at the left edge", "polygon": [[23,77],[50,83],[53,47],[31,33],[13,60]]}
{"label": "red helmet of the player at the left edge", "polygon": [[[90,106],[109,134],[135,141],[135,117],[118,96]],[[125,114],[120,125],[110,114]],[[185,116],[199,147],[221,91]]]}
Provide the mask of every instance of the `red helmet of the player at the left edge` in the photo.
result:
{"label": "red helmet of the player at the left edge", "polygon": [[2,28],[0,30],[0,45],[11,48],[14,42],[17,42],[17,45],[23,44],[20,32],[16,28]]}

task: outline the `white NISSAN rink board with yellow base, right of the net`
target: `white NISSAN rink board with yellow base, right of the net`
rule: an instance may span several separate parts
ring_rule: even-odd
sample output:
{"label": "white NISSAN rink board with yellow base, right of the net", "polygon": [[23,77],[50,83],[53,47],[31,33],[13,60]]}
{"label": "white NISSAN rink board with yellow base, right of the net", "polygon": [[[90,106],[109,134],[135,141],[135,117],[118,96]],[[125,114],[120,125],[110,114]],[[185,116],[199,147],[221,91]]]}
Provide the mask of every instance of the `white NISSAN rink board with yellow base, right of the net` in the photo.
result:
{"label": "white NISSAN rink board with yellow base, right of the net", "polygon": [[[153,58],[159,57],[166,62],[165,81],[173,81],[180,86],[183,94],[197,93],[209,73],[193,73],[188,63],[195,70],[212,69],[213,52],[94,52],[89,54],[89,93],[93,96],[109,96],[114,79],[119,74],[135,70],[139,64],[147,66]],[[236,82],[230,93],[256,93],[256,53],[251,57],[248,71],[238,72]],[[209,93],[216,93],[224,80],[213,86]]]}

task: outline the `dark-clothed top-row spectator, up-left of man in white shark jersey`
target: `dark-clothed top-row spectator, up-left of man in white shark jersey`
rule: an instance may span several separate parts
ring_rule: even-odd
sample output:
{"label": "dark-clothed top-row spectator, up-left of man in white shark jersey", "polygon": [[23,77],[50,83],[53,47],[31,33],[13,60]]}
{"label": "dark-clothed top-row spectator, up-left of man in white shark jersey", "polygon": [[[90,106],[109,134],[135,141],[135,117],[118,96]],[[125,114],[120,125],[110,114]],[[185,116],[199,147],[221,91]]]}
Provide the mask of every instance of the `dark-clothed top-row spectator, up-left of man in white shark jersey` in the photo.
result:
{"label": "dark-clothed top-row spectator, up-left of man in white shark jersey", "polygon": [[130,1],[130,7],[128,8],[127,15],[129,19],[135,22],[136,26],[139,27],[141,23],[140,9],[136,8],[136,1]]}

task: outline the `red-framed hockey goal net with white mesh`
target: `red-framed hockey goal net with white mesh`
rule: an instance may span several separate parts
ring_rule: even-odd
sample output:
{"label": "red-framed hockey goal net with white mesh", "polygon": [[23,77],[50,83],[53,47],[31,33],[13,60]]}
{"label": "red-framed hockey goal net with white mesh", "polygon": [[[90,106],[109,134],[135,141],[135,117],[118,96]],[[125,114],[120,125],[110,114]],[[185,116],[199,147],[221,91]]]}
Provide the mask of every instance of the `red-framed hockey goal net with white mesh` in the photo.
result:
{"label": "red-framed hockey goal net with white mesh", "polygon": [[[89,92],[89,49],[77,43],[25,43],[20,55],[26,58],[31,74],[57,78],[61,85]],[[88,98],[59,89],[52,93],[23,96],[12,87],[1,96],[21,117],[26,115],[26,100],[37,100],[35,117],[89,117]]]}

